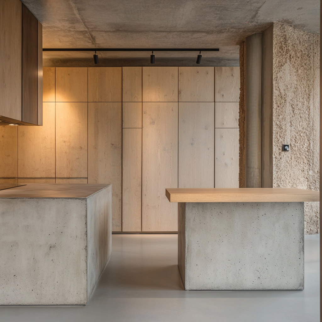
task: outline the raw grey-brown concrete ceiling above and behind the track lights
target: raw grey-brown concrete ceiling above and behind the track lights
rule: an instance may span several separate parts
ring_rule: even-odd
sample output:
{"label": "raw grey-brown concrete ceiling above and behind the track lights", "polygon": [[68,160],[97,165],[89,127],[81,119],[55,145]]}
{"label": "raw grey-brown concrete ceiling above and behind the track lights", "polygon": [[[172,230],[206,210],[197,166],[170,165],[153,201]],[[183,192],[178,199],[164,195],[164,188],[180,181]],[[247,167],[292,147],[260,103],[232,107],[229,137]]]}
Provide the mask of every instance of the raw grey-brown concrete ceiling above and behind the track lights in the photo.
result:
{"label": "raw grey-brown concrete ceiling above and behind the track lights", "polygon": [[[239,43],[272,22],[319,33],[319,0],[23,0],[44,48],[220,48],[203,65],[238,66]],[[44,52],[44,65],[92,64],[91,52]],[[100,64],[149,65],[150,52],[99,52]],[[194,66],[197,52],[155,52],[157,65]],[[189,57],[191,57],[189,59]]]}

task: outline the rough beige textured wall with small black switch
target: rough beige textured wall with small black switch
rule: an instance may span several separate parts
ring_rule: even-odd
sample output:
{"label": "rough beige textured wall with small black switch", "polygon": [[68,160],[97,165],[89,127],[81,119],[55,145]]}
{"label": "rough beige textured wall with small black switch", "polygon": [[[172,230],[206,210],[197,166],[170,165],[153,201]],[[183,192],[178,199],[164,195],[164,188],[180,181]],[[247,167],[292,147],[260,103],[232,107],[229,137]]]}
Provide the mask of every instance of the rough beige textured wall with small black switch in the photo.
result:
{"label": "rough beige textured wall with small black switch", "polygon": [[[319,191],[319,48],[319,35],[274,24],[273,187]],[[318,232],[319,203],[305,203],[305,233]]]}

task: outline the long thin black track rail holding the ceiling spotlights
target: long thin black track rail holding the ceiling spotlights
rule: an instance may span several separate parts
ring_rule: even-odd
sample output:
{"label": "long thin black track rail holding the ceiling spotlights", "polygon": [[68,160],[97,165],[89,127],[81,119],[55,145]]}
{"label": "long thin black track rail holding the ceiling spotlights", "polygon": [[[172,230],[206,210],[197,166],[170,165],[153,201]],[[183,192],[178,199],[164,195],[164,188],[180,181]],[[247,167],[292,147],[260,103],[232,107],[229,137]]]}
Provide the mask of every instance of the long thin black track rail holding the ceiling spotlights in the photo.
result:
{"label": "long thin black track rail holding the ceiling spotlights", "polygon": [[219,48],[43,48],[43,52],[219,52]]}

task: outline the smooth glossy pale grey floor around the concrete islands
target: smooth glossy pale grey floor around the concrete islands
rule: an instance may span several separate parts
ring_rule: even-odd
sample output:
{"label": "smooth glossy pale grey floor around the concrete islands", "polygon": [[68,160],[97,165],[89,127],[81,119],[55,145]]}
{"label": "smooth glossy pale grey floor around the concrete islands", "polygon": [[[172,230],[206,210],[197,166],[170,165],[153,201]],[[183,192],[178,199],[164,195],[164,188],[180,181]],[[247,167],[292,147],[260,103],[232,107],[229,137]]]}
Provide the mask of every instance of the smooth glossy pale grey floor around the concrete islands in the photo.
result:
{"label": "smooth glossy pale grey floor around the concrete islands", "polygon": [[1,322],[318,322],[319,235],[305,238],[303,291],[184,291],[177,235],[113,235],[86,306],[3,306]]}

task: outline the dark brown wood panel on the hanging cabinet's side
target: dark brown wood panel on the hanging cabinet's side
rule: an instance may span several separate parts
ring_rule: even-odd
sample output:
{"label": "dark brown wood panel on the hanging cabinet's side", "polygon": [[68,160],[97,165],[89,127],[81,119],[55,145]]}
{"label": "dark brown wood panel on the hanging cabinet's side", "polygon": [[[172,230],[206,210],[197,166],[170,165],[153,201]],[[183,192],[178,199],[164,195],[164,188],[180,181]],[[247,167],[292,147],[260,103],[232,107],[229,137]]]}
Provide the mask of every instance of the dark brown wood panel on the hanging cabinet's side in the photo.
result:
{"label": "dark brown wood panel on the hanging cabinet's side", "polygon": [[22,5],[22,120],[38,124],[38,20]]}

